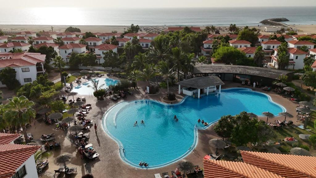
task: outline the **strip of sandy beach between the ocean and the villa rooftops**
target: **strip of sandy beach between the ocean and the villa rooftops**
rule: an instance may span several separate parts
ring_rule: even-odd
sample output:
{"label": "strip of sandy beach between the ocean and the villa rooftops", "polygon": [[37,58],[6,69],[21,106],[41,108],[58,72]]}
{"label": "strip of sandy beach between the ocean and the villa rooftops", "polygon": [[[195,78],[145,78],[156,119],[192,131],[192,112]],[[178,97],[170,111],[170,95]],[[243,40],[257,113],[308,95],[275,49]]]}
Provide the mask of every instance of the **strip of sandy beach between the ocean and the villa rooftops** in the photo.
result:
{"label": "strip of sandy beach between the ocean and the villa rooftops", "polygon": [[[270,34],[269,32],[264,32],[264,27],[266,25],[260,26],[260,31],[261,34]],[[2,29],[4,32],[20,32],[20,31],[34,31],[34,32],[39,32],[39,31],[51,31],[51,27],[53,27],[54,31],[64,31],[68,25],[0,25],[0,29]],[[81,32],[112,32],[112,31],[117,31],[117,32],[124,32],[129,26],[72,26],[72,27],[77,27],[81,29]],[[140,26],[141,29],[143,30],[143,33],[149,33],[149,32],[158,32],[162,31],[163,29],[167,29],[168,27],[172,26]],[[199,26],[201,29],[204,29],[205,26]],[[218,27],[218,26],[216,26]],[[239,26],[239,27],[244,27],[244,26]],[[257,26],[250,26],[256,27]],[[289,27],[293,29],[298,29],[298,34],[304,34],[304,33],[316,33],[316,25],[289,25]],[[218,27],[219,28],[219,27]],[[222,30],[220,30],[221,34],[228,33],[228,26],[221,26],[220,27]]]}

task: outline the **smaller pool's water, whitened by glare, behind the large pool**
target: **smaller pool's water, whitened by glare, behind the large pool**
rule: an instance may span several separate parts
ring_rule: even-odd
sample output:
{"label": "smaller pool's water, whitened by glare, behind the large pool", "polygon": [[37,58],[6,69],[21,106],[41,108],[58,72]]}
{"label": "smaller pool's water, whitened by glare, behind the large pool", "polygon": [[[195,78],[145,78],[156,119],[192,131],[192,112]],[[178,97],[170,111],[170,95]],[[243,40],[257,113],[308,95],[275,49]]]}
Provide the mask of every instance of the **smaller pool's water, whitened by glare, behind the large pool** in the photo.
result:
{"label": "smaller pool's water, whitened by glare, behind the large pool", "polygon": [[[108,88],[108,86],[110,85],[115,85],[119,82],[118,80],[109,79],[109,78],[96,78],[93,80],[99,81],[99,86],[101,86],[102,84],[105,84],[103,87],[101,87],[104,89]],[[84,82],[85,79],[81,79],[81,81],[83,83],[81,83],[79,86],[75,86],[72,89],[72,91],[77,92],[80,95],[93,95],[93,92],[94,92],[93,88],[88,87],[89,85],[92,86],[92,81],[89,80],[87,82]]]}

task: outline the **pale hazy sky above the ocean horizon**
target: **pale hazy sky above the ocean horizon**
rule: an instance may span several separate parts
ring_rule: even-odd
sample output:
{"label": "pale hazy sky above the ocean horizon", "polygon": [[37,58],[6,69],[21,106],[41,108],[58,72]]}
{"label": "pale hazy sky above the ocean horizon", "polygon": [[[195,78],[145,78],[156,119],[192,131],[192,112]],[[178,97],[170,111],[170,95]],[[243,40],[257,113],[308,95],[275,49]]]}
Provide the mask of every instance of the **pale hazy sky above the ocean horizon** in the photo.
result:
{"label": "pale hazy sky above the ocean horizon", "polygon": [[[27,2],[27,3],[26,3]],[[189,8],[189,7],[262,7],[262,6],[316,6],[316,0],[10,0],[2,6],[77,7],[77,8]]]}

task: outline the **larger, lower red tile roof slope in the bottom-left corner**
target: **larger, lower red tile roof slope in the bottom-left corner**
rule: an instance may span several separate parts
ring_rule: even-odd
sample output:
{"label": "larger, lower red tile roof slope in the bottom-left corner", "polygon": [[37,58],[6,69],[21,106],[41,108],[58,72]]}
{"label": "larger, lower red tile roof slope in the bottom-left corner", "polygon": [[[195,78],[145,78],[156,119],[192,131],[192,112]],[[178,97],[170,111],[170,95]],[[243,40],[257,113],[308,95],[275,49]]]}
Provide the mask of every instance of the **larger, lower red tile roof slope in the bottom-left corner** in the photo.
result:
{"label": "larger, lower red tile roof slope in the bottom-left corner", "polygon": [[0,177],[10,178],[40,146],[4,144],[0,145]]}

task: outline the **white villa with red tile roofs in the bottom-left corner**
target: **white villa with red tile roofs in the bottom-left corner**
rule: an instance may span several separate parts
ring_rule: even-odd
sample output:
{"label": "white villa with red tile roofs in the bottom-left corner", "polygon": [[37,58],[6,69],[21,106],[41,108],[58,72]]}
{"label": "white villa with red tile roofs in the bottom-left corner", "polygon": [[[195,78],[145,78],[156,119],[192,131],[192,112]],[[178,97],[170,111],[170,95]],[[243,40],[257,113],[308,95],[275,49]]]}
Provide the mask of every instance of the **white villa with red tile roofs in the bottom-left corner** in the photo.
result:
{"label": "white villa with red tile roofs in the bottom-left corner", "polygon": [[1,178],[38,177],[34,153],[40,146],[14,144],[20,134],[0,133]]}

